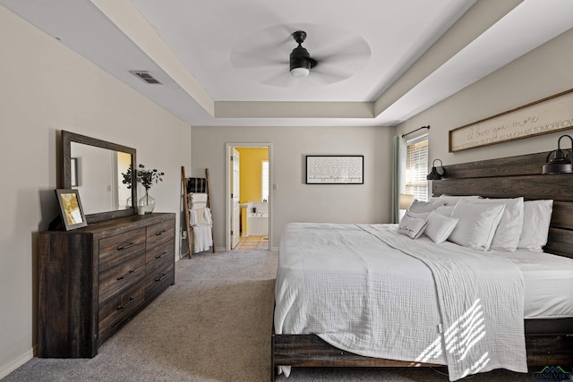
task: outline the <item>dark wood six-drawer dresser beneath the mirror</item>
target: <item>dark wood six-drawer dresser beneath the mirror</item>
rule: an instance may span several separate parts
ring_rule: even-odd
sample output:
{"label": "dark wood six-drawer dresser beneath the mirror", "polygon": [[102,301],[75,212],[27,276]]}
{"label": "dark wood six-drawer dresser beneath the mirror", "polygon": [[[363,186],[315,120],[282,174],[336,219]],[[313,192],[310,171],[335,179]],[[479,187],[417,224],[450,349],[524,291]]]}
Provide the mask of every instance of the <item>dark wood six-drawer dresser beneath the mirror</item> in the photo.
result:
{"label": "dark wood six-drawer dresser beneath the mirror", "polygon": [[175,284],[175,214],[39,234],[38,356],[91,358]]}

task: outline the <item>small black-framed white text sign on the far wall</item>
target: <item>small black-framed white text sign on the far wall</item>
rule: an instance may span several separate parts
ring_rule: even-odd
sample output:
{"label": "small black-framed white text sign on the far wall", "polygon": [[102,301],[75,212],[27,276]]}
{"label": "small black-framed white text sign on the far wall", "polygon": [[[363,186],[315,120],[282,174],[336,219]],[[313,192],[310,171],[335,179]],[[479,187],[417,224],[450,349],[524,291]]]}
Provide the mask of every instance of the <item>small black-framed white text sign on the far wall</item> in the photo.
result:
{"label": "small black-framed white text sign on the far wall", "polygon": [[306,156],[306,184],[363,184],[364,156]]}

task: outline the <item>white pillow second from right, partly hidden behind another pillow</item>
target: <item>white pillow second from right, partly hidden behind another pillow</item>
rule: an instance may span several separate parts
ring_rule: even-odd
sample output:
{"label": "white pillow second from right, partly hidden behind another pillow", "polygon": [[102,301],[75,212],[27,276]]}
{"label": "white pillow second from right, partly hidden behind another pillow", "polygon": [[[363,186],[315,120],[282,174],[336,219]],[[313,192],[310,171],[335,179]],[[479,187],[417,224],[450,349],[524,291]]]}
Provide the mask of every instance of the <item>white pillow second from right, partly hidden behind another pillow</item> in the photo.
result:
{"label": "white pillow second from right, partly hidden behind another pillow", "polygon": [[500,225],[493,235],[492,250],[517,250],[519,236],[523,229],[523,198],[512,199],[475,199],[472,203],[480,205],[505,204]]}

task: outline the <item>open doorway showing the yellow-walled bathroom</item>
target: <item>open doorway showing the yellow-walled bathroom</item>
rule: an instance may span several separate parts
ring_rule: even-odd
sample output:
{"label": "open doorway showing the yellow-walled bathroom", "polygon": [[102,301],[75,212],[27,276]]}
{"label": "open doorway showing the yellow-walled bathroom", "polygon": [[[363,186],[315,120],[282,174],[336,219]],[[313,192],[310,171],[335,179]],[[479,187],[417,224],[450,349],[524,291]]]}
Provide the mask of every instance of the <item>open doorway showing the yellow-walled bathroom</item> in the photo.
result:
{"label": "open doorway showing the yellow-walled bathroom", "polygon": [[227,143],[226,250],[270,250],[270,143]]}

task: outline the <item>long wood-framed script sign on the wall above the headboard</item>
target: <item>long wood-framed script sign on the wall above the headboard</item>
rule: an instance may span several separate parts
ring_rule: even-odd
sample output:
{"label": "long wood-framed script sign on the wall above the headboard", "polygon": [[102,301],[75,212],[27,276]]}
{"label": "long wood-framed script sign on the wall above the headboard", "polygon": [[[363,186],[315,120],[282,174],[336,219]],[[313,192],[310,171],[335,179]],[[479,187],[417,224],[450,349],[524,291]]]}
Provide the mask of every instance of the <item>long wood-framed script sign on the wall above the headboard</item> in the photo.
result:
{"label": "long wood-framed script sign on the wall above the headboard", "polygon": [[573,128],[573,89],[449,131],[449,152]]}

